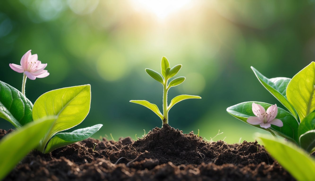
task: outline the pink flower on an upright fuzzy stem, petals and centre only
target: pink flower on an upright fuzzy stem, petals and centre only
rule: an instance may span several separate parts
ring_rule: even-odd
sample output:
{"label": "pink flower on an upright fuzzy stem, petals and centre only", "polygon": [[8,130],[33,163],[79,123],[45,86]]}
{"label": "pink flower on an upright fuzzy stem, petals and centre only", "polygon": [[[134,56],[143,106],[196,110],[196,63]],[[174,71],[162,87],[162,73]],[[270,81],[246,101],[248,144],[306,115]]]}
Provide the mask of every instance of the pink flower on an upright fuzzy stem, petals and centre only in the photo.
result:
{"label": "pink flower on an upright fuzzy stem, petals and centre only", "polygon": [[44,78],[49,75],[47,70],[44,70],[47,63],[42,63],[38,60],[37,54],[32,55],[31,50],[26,52],[21,58],[21,65],[14,63],[9,64],[11,69],[18,73],[23,73],[31,80],[36,78]]}

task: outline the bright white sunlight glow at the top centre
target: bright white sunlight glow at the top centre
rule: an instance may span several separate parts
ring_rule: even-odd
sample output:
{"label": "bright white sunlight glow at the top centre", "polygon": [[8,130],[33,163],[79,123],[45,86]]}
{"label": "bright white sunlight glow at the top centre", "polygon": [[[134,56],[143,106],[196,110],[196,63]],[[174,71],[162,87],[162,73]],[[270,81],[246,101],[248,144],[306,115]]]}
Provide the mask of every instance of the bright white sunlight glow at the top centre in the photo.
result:
{"label": "bright white sunlight glow at the top centre", "polygon": [[147,11],[164,19],[169,14],[188,7],[191,0],[132,0],[132,2],[136,10]]}

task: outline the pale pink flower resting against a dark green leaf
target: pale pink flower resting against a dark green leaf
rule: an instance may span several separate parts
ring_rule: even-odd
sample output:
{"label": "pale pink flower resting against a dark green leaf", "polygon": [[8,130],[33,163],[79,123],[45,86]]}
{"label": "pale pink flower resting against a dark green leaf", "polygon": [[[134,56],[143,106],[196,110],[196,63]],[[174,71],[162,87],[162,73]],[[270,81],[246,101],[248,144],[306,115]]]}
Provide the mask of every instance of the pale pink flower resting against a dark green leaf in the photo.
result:
{"label": "pale pink flower resting against a dark green leaf", "polygon": [[277,119],[276,116],[278,114],[277,104],[268,107],[267,112],[265,108],[263,108],[259,104],[252,104],[252,110],[256,116],[250,116],[247,119],[247,123],[253,125],[260,125],[262,128],[269,128],[271,124],[282,127],[283,123],[280,119]]}

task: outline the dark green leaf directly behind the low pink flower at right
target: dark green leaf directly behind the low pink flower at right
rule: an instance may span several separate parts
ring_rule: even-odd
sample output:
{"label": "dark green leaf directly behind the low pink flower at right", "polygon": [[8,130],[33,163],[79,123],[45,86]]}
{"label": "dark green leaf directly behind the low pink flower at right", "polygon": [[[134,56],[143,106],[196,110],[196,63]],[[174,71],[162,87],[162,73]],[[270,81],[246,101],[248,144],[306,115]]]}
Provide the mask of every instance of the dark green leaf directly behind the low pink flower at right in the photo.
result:
{"label": "dark green leaf directly behind the low pink flower at right", "polygon": [[[262,107],[265,108],[265,110],[271,106],[271,104],[267,104],[265,102],[255,101],[255,103],[260,104]],[[239,120],[247,123],[247,118],[249,118],[250,116],[255,116],[252,111],[252,104],[253,104],[253,101],[242,102],[237,105],[228,107],[226,111],[230,113],[232,116],[234,116],[235,118],[238,118]],[[288,140],[298,143],[299,142],[299,137],[298,137],[299,123],[292,116],[292,114],[278,107],[278,114],[276,118],[280,119],[283,122],[283,127],[271,125],[271,127],[269,128],[270,131]],[[268,129],[260,127],[260,125],[252,125],[252,126],[255,126],[260,129],[268,130]]]}

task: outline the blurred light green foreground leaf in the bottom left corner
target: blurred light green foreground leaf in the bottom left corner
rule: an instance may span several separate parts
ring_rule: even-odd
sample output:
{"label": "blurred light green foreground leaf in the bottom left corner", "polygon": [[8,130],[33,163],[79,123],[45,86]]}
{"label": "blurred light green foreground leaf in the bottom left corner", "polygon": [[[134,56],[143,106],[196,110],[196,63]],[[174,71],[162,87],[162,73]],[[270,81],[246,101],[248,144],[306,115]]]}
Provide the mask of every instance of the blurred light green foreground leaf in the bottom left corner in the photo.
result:
{"label": "blurred light green foreground leaf in the bottom left corner", "polygon": [[46,117],[28,123],[0,140],[0,180],[38,145],[51,129],[54,120],[55,117]]}

